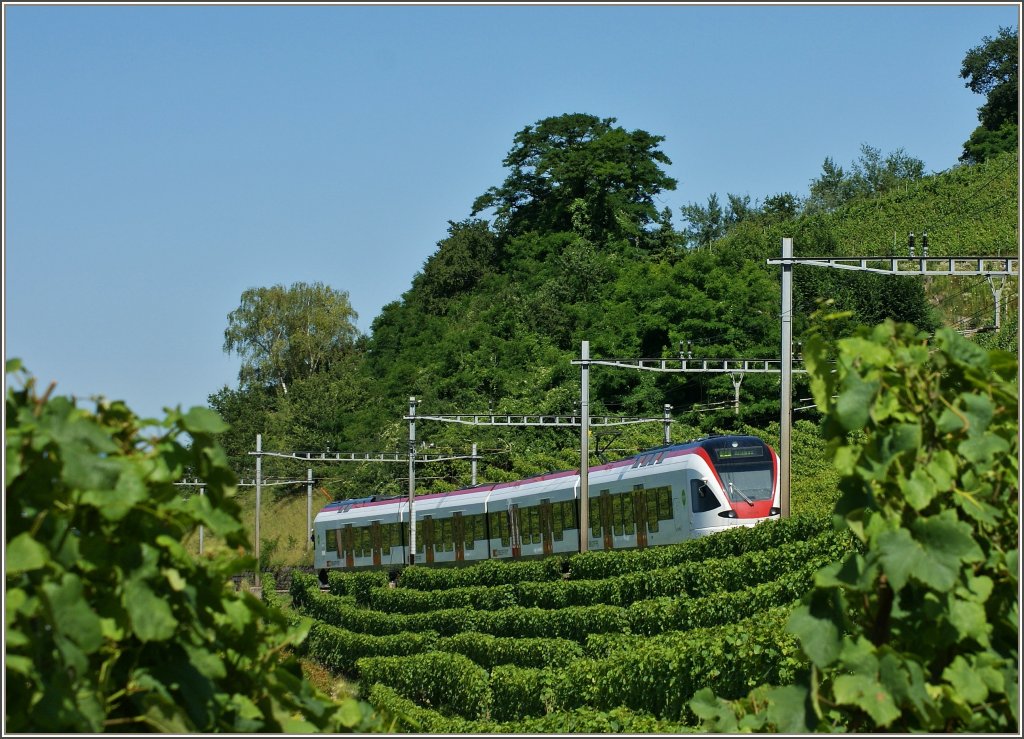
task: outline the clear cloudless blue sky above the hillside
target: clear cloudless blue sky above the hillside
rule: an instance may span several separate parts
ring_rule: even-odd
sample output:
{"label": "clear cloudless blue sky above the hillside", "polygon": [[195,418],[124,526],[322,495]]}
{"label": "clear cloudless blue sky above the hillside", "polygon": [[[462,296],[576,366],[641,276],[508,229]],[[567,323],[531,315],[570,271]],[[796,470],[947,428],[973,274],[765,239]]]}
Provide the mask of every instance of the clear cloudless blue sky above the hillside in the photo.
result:
{"label": "clear cloudless blue sky above the hillside", "polygon": [[369,332],[549,116],[665,136],[677,225],[863,143],[948,169],[984,101],[964,55],[1019,9],[6,3],[5,356],[143,416],[205,404],[243,291],[323,281]]}

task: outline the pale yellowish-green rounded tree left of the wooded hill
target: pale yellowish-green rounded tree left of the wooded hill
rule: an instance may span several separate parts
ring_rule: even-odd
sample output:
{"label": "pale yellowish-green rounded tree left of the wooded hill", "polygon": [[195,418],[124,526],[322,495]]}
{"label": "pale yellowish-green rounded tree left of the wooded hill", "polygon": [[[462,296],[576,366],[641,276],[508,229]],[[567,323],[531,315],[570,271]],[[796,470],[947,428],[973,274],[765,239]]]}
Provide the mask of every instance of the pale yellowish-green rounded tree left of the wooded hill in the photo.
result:
{"label": "pale yellowish-green rounded tree left of the wooded hill", "polygon": [[252,288],[227,315],[224,351],[243,359],[244,385],[278,386],[327,370],[354,350],[358,331],[348,293],[322,282]]}

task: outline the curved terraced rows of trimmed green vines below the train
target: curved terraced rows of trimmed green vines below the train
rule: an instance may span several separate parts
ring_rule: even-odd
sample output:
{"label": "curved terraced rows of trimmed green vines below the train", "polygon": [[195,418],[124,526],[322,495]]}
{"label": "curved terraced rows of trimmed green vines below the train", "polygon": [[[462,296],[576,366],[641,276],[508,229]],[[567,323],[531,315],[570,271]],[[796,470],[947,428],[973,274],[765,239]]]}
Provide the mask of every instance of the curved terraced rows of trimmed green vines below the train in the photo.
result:
{"label": "curved terraced rows of trimmed green vines below the train", "polygon": [[806,665],[784,623],[850,537],[798,515],[671,547],[332,572],[292,580],[304,649],[429,733],[694,731],[703,687],[740,697]]}

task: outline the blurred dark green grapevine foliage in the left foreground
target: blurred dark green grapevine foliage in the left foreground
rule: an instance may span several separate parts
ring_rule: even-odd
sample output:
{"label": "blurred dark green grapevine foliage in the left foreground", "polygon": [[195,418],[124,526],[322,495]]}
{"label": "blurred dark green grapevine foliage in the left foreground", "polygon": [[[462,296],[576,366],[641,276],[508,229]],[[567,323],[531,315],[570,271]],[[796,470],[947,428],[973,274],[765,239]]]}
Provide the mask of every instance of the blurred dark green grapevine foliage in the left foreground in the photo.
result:
{"label": "blurred dark green grapevine foliage in the left foreground", "polygon": [[[380,726],[302,680],[291,647],[308,622],[225,586],[255,562],[216,414],[171,410],[143,438],[156,422],[120,401],[89,412],[6,371],[24,377],[6,396],[5,733]],[[186,470],[206,495],[175,488]],[[200,524],[233,551],[186,552]]]}

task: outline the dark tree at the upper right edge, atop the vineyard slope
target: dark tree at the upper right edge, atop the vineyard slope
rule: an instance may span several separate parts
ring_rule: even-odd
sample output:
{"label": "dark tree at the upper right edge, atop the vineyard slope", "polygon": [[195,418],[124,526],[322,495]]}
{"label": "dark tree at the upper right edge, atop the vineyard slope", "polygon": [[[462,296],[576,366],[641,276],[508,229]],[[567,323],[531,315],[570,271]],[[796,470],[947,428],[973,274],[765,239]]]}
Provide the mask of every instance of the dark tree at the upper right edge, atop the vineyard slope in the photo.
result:
{"label": "dark tree at the upper right edge, atop the vineyard slope", "polygon": [[972,92],[985,95],[985,102],[978,108],[981,125],[964,144],[962,162],[983,162],[994,154],[1017,148],[1018,55],[1017,32],[1000,28],[995,38],[985,36],[964,57],[964,84]]}

